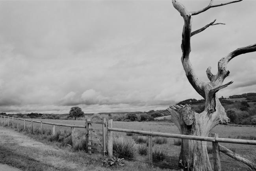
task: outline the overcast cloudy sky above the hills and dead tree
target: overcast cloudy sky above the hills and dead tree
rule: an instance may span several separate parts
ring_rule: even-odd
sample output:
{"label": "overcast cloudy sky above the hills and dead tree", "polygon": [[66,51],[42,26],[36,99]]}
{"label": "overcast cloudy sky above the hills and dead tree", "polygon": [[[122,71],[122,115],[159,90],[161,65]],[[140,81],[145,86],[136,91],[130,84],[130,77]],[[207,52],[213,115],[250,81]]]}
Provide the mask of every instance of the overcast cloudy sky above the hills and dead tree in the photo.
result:
{"label": "overcast cloudy sky above the hills and dead tree", "polygon": [[[210,1],[210,0],[209,0]],[[208,0],[181,0],[190,11]],[[226,2],[215,0],[215,4]],[[256,1],[193,16],[191,62],[206,69],[256,43]],[[180,62],[183,19],[171,0],[0,1],[0,112],[148,111],[201,99]],[[228,64],[219,96],[256,92],[256,52]]]}

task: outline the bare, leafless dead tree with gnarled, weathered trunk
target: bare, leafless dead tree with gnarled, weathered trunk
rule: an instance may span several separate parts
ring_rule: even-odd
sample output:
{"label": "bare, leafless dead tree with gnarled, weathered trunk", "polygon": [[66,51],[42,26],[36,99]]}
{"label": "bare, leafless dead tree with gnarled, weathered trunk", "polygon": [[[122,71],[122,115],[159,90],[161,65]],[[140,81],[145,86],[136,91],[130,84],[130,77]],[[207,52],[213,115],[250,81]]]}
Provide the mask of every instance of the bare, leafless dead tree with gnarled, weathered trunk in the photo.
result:
{"label": "bare, leafless dead tree with gnarled, weathered trunk", "polygon": [[[207,24],[203,28],[191,32],[192,15],[198,15],[204,11],[213,8],[224,6],[227,4],[239,2],[242,0],[236,0],[223,4],[213,5],[213,0],[210,4],[203,9],[198,11],[188,11],[186,7],[172,0],[174,8],[180,13],[184,19],[184,27],[182,31],[182,57],[181,62],[186,72],[187,79],[193,88],[202,96],[205,100],[205,108],[201,113],[193,111],[190,105],[171,105],[167,110],[171,112],[172,120],[180,130],[181,134],[194,135],[194,136],[208,136],[211,129],[218,124],[228,124],[228,117],[226,112],[221,105],[217,92],[222,88],[232,84],[233,81],[223,84],[224,79],[229,75],[229,71],[226,69],[228,62],[234,57],[243,53],[249,53],[256,51],[256,44],[252,44],[246,47],[238,48],[230,52],[226,57],[223,57],[218,62],[218,72],[216,75],[211,73],[211,67],[208,67],[206,74],[210,82],[202,82],[195,74],[192,64],[189,60],[189,53],[191,51],[190,39],[191,36],[204,31],[206,28],[222,24],[215,23],[216,20]],[[186,170],[194,171],[211,171],[211,164],[207,154],[206,142],[196,140],[182,140],[182,147],[180,152],[180,163],[179,165]]]}

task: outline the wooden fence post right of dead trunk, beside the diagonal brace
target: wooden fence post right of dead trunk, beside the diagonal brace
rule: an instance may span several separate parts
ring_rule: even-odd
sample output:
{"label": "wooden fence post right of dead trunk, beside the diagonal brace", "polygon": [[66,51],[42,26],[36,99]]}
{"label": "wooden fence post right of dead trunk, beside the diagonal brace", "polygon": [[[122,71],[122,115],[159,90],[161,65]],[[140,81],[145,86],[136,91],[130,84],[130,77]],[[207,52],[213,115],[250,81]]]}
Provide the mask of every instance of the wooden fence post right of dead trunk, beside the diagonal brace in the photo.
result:
{"label": "wooden fence post right of dead trunk, beside the diagonal brace", "polygon": [[[218,134],[211,134],[211,137],[218,138]],[[213,170],[221,171],[221,157],[219,153],[219,143],[212,142]]]}

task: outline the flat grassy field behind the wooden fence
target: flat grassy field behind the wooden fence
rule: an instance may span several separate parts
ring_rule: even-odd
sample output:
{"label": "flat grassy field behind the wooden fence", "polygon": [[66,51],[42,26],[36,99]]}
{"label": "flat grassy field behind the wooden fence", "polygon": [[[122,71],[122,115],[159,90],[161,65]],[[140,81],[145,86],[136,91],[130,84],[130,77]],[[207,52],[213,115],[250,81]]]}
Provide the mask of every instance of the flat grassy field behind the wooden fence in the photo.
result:
{"label": "flat grassy field behind the wooden fence", "polygon": [[[37,119],[35,119],[37,120]],[[17,120],[15,120],[16,122]],[[75,124],[75,125],[84,125],[85,121],[83,120],[43,120],[47,122],[54,122],[54,123],[65,123],[65,124]],[[11,122],[11,120],[10,120]],[[20,125],[23,125],[23,121],[19,121]],[[17,124],[17,123],[15,123]],[[27,125],[30,125],[30,122],[26,122]],[[35,127],[39,127],[39,123],[34,123]],[[102,126],[98,124],[92,124],[92,128],[100,129]],[[115,128],[122,128],[122,129],[134,129],[134,130],[142,130],[142,131],[149,131],[152,129],[154,132],[165,132],[165,133],[174,133],[179,134],[178,128],[173,123],[168,122],[121,122],[121,121],[114,121],[113,127]],[[52,125],[43,125],[44,129],[51,129]],[[56,127],[56,129],[69,129],[67,127]],[[85,132],[85,129],[76,129],[76,131]],[[132,138],[132,136],[127,136],[124,132],[114,132],[117,135],[122,135],[124,138]],[[219,137],[222,138],[240,138],[240,139],[253,139],[256,135],[256,128],[255,127],[229,127],[225,125],[218,125],[216,126],[211,133],[218,133]],[[145,137],[147,138],[147,137]],[[146,145],[146,143],[142,143]],[[139,145],[139,144],[138,144]],[[241,145],[241,144],[231,144],[231,143],[221,143],[221,145],[227,147],[228,149],[232,149],[237,154],[244,156],[245,158],[249,158],[250,160],[256,160],[256,147],[254,145]],[[208,142],[207,146],[209,149],[211,148],[211,143]],[[180,153],[180,146],[174,145],[174,138],[167,138],[167,143],[165,144],[154,144],[154,148],[161,148],[165,149],[167,153],[167,158],[165,158],[165,162],[168,162],[169,168],[177,168],[178,164],[178,157]],[[212,162],[212,155],[209,154],[210,160]],[[147,156],[138,156],[137,160],[142,162],[147,161]],[[160,163],[161,164],[161,163]],[[236,160],[221,154],[221,165],[223,170],[233,171],[233,170],[247,170],[248,168]]]}

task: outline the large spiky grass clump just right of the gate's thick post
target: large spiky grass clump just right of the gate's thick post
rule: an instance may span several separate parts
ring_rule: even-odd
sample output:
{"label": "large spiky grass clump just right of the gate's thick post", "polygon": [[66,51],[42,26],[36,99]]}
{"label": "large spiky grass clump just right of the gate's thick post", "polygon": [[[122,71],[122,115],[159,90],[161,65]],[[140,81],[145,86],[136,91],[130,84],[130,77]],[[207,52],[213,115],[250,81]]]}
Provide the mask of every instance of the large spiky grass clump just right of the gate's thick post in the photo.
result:
{"label": "large spiky grass clump just right of the gate's thick post", "polygon": [[137,157],[135,141],[113,136],[113,154],[119,158],[134,160]]}

